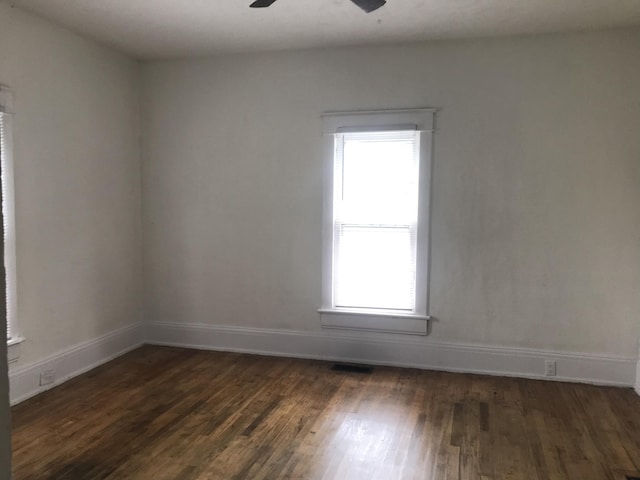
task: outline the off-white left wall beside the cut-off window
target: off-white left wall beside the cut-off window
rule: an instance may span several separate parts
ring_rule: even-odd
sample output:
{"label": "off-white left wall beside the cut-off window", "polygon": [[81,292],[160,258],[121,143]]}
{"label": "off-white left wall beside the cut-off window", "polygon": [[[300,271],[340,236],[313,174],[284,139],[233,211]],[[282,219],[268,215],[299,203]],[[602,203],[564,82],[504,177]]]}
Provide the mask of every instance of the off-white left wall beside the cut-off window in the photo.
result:
{"label": "off-white left wall beside the cut-off window", "polygon": [[0,5],[22,368],[141,320],[139,67]]}

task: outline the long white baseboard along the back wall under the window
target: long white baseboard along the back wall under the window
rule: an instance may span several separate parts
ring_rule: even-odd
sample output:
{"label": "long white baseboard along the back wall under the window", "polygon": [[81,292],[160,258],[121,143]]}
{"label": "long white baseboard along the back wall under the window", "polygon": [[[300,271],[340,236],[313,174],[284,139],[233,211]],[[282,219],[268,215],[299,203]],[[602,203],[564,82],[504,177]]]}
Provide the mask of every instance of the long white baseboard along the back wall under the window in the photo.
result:
{"label": "long white baseboard along the back wall under the window", "polygon": [[[150,323],[147,343],[270,356],[412,367],[631,387],[637,358],[572,352],[434,343],[428,339],[373,339],[335,331],[297,332],[179,323]],[[557,375],[547,377],[545,360]]]}

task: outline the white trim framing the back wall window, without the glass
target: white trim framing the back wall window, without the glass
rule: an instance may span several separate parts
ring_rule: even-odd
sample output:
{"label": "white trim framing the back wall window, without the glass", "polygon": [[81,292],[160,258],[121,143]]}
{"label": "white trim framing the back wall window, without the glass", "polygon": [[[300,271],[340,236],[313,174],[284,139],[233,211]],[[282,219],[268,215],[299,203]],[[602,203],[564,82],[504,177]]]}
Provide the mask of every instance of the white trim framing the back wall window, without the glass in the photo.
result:
{"label": "white trim framing the back wall window, without the glass", "polygon": [[[430,318],[428,292],[431,157],[436,113],[435,108],[419,108],[328,112],[323,115],[322,306],[318,309],[322,327],[427,335]],[[398,125],[413,125],[421,132],[415,312],[336,308],[333,306],[332,298],[334,134],[344,129],[380,130]]]}

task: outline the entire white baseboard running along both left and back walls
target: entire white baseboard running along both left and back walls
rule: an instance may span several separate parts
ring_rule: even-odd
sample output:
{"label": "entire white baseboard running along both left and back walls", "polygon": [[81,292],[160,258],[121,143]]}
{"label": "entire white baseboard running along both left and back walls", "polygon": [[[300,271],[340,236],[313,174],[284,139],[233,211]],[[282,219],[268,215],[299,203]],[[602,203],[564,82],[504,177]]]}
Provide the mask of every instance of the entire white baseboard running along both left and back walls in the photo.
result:
{"label": "entire white baseboard running along both left and back walls", "polygon": [[[640,395],[640,361],[636,358],[434,343],[413,337],[374,339],[356,334],[337,334],[333,330],[315,333],[179,323],[139,323],[10,371],[11,405],[117,358],[144,344],[145,338],[146,343],[153,345],[204,350],[635,386]],[[556,361],[557,376],[544,375],[545,360]],[[55,382],[40,386],[40,374],[48,370],[56,371]]]}

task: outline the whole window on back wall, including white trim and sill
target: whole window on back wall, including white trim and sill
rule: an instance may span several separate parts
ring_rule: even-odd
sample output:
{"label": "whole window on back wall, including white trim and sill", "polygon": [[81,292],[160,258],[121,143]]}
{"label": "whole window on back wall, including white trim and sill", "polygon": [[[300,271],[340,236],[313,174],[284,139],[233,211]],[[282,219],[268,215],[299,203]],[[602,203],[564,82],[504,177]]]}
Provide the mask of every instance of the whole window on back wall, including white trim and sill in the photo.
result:
{"label": "whole window on back wall, including white trim and sill", "polygon": [[426,335],[434,116],[324,116],[324,327]]}

